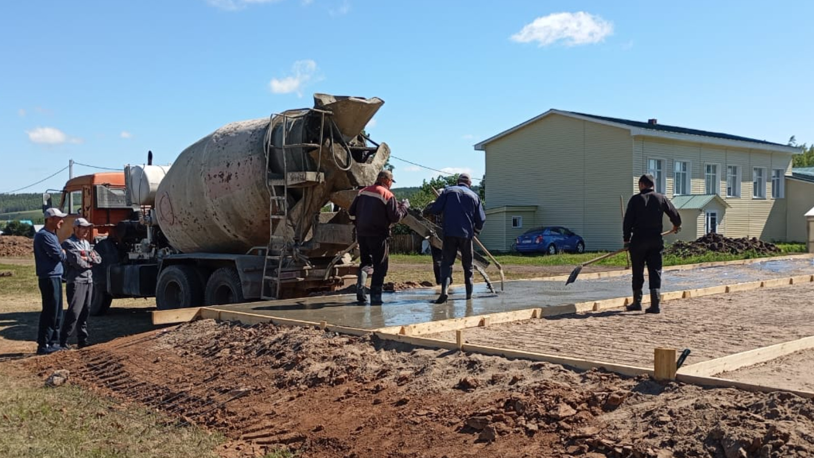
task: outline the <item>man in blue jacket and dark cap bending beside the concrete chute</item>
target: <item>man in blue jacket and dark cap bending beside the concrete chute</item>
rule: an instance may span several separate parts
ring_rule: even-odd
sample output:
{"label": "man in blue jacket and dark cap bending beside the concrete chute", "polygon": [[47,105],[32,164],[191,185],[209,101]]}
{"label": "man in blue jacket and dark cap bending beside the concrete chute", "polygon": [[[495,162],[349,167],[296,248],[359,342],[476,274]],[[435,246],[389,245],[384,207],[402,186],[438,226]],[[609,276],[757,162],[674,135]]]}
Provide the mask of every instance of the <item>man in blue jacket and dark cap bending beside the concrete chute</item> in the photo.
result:
{"label": "man in blue jacket and dark cap bending beside the concrete chute", "polygon": [[441,293],[436,304],[447,302],[450,277],[458,250],[461,251],[466,299],[472,298],[472,239],[484,229],[486,214],[480,197],[470,189],[472,178],[461,174],[457,186],[449,186],[441,192],[435,202],[424,209],[425,214],[444,215],[444,249],[441,264]]}

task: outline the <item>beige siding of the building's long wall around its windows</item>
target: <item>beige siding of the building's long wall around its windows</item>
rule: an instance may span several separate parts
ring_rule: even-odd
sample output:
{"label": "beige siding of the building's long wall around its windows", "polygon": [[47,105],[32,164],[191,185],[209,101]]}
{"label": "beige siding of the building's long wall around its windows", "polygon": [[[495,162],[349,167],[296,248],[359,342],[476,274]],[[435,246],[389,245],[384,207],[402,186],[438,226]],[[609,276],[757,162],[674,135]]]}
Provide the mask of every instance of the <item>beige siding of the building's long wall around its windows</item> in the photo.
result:
{"label": "beige siding of the building's long wall around its windows", "polygon": [[[664,184],[667,196],[674,196],[676,161],[689,162],[692,170],[691,192],[706,193],[705,165],[718,166],[718,190],[730,208],[719,224],[719,233],[728,237],[759,237],[764,240],[786,239],[786,199],[772,199],[772,169],[784,169],[790,173],[791,156],[782,153],[759,150],[724,148],[700,143],[685,143],[665,139],[637,137],[633,143],[633,183],[646,172],[648,159],[663,161]],[[726,170],[728,165],[737,165],[740,173],[740,197],[726,196]],[[764,199],[752,197],[752,171],[755,167],[764,170]],[[684,215],[682,214],[682,217]],[[704,218],[703,215],[699,215]],[[704,220],[699,219],[697,231],[704,229]],[[667,241],[685,239],[670,236]]]}

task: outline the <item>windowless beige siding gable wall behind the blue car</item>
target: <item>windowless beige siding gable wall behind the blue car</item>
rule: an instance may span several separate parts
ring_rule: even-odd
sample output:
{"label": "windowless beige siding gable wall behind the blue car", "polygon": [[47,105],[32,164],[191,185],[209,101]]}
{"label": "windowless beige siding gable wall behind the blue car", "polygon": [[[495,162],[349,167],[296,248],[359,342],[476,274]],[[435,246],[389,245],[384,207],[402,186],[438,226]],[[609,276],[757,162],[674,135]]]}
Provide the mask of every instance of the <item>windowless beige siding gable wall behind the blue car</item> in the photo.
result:
{"label": "windowless beige siding gable wall behind the blue car", "polygon": [[[589,250],[619,248],[619,196],[631,192],[620,177],[630,174],[631,148],[628,130],[545,117],[486,145],[487,205],[539,205],[534,226],[568,227]],[[484,244],[505,249],[514,232],[505,230],[501,244],[500,229],[488,221]],[[510,224],[504,220],[504,227]]]}

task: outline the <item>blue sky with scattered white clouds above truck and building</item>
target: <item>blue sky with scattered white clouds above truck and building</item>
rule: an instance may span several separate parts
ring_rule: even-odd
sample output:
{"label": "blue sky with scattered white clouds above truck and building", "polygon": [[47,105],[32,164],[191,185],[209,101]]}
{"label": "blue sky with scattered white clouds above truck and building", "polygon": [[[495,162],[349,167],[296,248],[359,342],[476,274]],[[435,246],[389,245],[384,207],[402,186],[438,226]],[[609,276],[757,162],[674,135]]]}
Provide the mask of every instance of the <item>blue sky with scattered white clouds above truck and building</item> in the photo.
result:
{"label": "blue sky with scattered white clouds above truck and building", "polygon": [[[314,92],[383,99],[375,140],[475,177],[474,143],[549,108],[812,143],[812,17],[804,1],[6,0],[0,192],[71,158],[168,163]],[[392,164],[399,186],[438,174]]]}

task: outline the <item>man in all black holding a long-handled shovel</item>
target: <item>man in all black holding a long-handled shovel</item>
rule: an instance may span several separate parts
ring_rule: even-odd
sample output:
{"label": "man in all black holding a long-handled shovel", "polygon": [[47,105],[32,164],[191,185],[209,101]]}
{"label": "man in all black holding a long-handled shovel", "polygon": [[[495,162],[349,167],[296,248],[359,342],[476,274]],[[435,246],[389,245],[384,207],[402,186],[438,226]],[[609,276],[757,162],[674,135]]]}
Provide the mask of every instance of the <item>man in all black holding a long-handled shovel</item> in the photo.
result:
{"label": "man in all black holding a long-handled shovel", "polygon": [[628,310],[641,310],[641,288],[645,284],[647,264],[650,286],[650,307],[645,313],[659,313],[661,296],[661,270],[664,239],[662,238],[663,215],[672,222],[672,231],[681,230],[681,216],[676,207],[663,194],[655,192],[655,178],[651,174],[639,178],[639,193],[628,200],[624,214],[624,245],[630,249],[633,274],[633,303]]}

